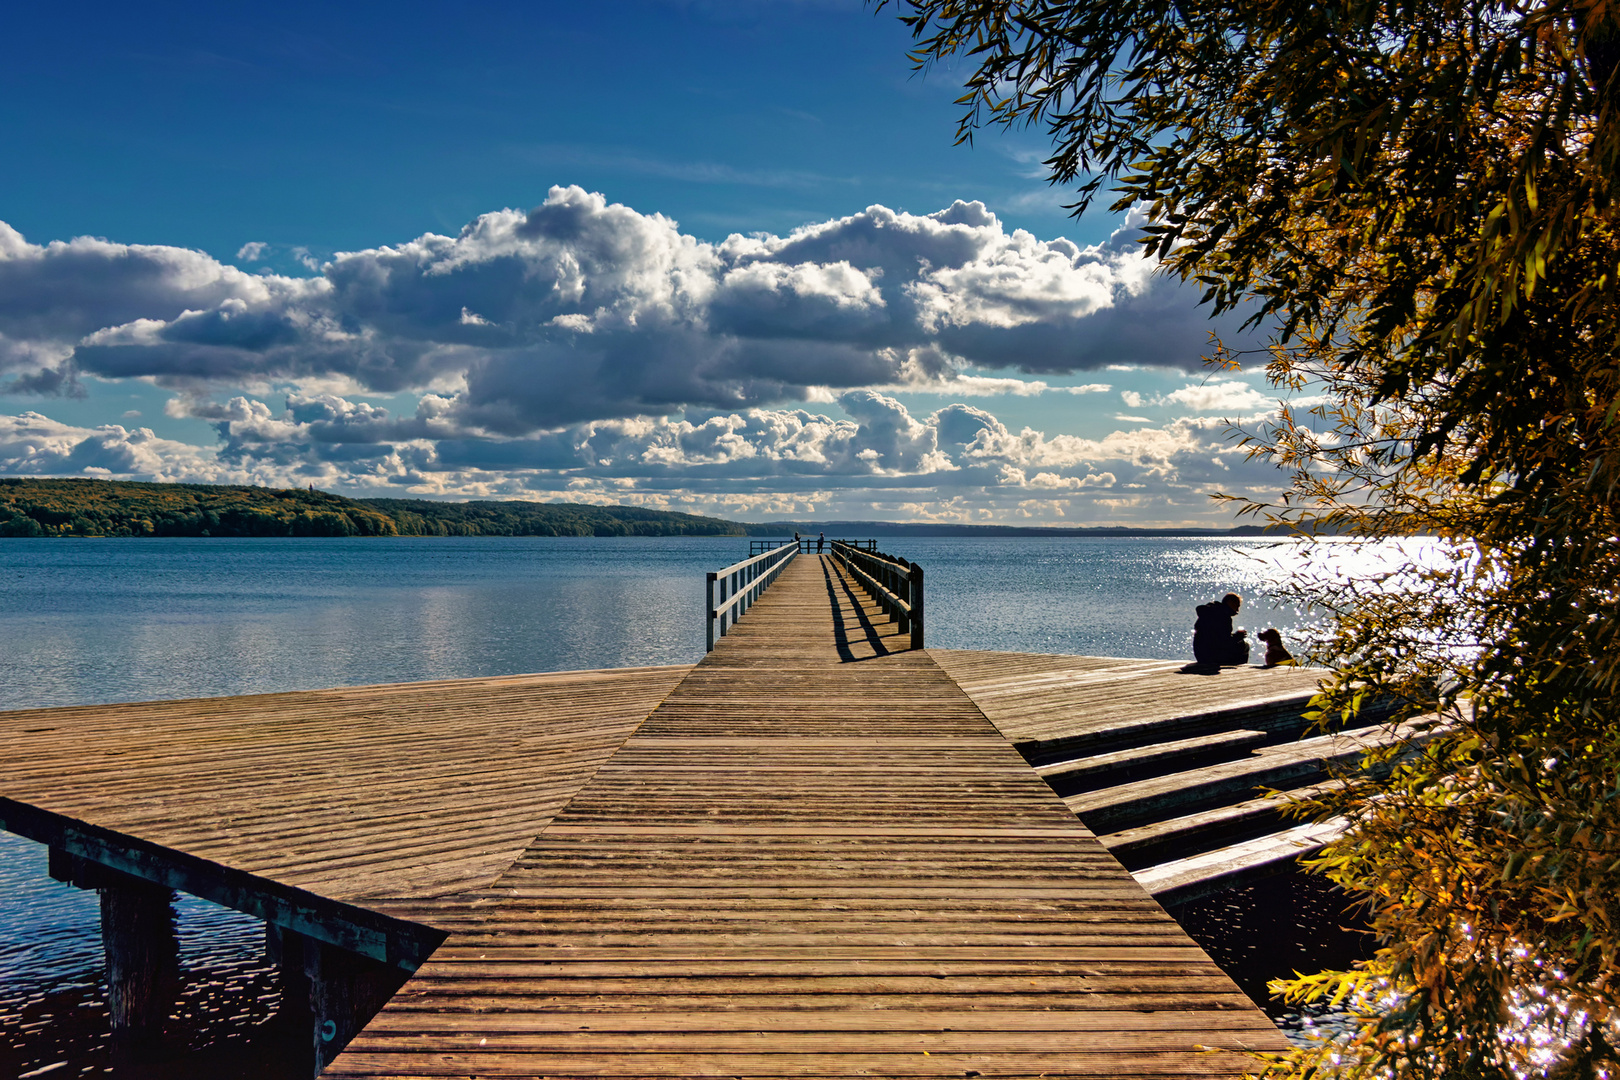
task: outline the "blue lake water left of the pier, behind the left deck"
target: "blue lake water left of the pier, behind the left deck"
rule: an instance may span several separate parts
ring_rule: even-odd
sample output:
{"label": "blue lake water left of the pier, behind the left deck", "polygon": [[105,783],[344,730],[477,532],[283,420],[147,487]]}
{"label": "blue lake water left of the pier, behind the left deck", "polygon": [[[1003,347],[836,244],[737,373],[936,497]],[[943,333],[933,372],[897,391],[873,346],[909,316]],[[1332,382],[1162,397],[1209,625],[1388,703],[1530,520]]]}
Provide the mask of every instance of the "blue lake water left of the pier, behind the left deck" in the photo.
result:
{"label": "blue lake water left of the pier, behind the left deck", "polygon": [[6,541],[0,708],[692,662],[745,541]]}

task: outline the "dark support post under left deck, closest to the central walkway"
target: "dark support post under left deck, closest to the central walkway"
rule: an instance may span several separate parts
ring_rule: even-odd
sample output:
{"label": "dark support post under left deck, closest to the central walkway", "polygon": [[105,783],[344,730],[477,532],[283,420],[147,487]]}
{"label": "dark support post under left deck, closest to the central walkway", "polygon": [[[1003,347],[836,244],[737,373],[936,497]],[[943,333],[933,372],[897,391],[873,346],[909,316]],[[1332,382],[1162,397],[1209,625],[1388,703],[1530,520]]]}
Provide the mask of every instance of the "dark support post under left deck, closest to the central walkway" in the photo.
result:
{"label": "dark support post under left deck, closest to the central walkway", "polygon": [[275,941],[288,1030],[303,1025],[311,1048],[309,1075],[318,1077],[410,973],[285,926],[277,928]]}

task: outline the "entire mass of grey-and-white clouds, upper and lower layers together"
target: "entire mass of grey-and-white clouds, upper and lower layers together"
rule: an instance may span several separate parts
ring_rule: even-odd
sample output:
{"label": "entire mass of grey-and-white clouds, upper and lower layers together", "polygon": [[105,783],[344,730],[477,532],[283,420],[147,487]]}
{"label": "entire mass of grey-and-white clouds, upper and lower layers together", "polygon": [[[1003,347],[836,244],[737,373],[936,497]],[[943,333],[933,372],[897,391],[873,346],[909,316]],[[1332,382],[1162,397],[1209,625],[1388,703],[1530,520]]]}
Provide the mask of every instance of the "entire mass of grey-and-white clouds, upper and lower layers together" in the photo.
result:
{"label": "entire mass of grey-and-white clouds, upper and lower layers together", "polygon": [[[1063,392],[1040,379],[1196,371],[1212,324],[1128,220],[1042,241],[980,202],[881,206],[706,243],[552,188],[455,236],[340,253],[311,277],[0,223],[0,393],[143,381],[215,447],[39,411],[0,416],[0,473],[573,497],[737,515],[1186,520],[1260,483],[1197,418],[1100,437],[896,395]],[[245,264],[264,243],[243,244]],[[1230,334],[1233,327],[1218,327]],[[411,415],[353,398],[410,395]],[[1123,400],[1254,413],[1238,381]],[[274,405],[272,405],[274,402]],[[839,416],[789,408],[838,405]],[[1140,418],[1128,418],[1132,423]],[[1147,423],[1147,421],[1142,421]],[[1247,478],[1247,479],[1246,479]]]}

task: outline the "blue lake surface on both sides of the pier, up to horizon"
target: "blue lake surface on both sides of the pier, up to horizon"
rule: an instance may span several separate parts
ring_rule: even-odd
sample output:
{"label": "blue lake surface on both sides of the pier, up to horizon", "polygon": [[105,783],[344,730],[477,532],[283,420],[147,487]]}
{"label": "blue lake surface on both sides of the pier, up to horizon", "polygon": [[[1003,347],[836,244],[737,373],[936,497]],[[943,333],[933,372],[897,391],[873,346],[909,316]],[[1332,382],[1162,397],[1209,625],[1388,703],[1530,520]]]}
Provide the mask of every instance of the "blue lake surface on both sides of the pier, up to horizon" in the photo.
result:
{"label": "blue lake surface on both sides of the pier, up to horizon", "polygon": [[[935,648],[1179,659],[1192,609],[1311,628],[1286,583],[1324,565],[1429,559],[1434,541],[883,541],[928,570]],[[703,654],[703,573],[732,538],[21,541],[0,544],[0,708],[141,701]]]}

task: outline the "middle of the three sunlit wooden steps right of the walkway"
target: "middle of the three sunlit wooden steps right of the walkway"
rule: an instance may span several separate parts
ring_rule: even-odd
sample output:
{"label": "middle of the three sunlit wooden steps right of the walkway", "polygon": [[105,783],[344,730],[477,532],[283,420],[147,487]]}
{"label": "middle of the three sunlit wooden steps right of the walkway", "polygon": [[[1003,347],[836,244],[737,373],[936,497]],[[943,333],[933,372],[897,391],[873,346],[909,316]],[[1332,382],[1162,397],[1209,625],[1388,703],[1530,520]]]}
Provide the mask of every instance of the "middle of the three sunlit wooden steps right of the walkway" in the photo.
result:
{"label": "middle of the three sunlit wooden steps right of the walkway", "polygon": [[1063,801],[1092,832],[1119,832],[1209,806],[1254,798],[1262,789],[1304,787],[1327,779],[1328,766],[1349,764],[1367,750],[1416,733],[1418,729],[1411,725],[1395,730],[1375,725],[1336,735],[1317,735],[1296,743],[1262,746],[1252,756],[1238,761],[1084,792]]}

